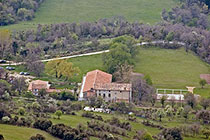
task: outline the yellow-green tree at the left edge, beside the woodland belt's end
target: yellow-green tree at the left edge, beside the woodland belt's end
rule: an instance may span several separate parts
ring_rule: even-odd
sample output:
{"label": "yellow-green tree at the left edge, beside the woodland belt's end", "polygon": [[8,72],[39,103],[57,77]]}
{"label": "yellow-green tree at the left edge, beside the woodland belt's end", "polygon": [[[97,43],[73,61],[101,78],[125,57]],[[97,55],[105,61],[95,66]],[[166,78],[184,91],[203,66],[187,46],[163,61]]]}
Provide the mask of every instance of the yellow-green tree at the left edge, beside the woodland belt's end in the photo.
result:
{"label": "yellow-green tree at the left edge, beside the woodland belt's end", "polygon": [[5,58],[5,53],[10,50],[11,37],[10,31],[0,29],[0,58]]}

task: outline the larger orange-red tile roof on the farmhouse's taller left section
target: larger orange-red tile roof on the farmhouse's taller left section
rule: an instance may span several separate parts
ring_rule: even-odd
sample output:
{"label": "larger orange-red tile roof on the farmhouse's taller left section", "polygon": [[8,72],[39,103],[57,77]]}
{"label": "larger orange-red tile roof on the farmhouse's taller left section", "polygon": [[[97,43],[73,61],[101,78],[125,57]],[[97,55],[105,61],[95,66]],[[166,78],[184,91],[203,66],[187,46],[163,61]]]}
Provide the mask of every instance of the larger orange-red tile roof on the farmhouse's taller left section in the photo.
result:
{"label": "larger orange-red tile roof on the farmhouse's taller left section", "polygon": [[112,75],[100,70],[90,71],[86,75],[83,92],[90,91],[95,84],[106,84],[112,82]]}

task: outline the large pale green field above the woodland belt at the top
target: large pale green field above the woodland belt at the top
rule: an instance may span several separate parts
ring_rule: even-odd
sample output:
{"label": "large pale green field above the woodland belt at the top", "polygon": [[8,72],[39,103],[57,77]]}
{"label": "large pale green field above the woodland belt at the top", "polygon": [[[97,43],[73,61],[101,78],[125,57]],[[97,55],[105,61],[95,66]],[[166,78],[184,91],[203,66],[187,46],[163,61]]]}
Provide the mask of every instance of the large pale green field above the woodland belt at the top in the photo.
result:
{"label": "large pale green field above the woodland belt at the top", "polygon": [[45,0],[32,21],[4,28],[20,30],[37,24],[96,21],[113,16],[154,24],[161,20],[163,8],[176,4],[177,0]]}

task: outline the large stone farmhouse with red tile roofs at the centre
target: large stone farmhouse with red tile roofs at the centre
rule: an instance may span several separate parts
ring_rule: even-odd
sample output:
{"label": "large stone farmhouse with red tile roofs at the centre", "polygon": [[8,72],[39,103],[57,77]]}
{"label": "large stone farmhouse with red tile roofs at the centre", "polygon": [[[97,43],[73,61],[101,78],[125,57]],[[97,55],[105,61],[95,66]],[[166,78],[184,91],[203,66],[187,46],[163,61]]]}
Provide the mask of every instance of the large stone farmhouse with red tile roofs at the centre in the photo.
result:
{"label": "large stone farmhouse with red tile roofs at the centre", "polygon": [[106,102],[130,102],[132,86],[129,83],[113,83],[112,75],[103,71],[90,71],[83,77],[79,100],[93,96],[100,96]]}

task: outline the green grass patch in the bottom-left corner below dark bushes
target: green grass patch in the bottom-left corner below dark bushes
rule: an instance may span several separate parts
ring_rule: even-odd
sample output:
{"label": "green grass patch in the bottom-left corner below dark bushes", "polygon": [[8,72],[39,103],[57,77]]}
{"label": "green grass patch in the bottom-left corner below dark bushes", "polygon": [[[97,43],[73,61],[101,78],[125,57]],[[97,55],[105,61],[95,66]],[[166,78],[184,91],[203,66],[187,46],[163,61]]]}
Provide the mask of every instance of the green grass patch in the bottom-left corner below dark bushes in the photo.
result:
{"label": "green grass patch in the bottom-left corner below dark bushes", "polygon": [[0,134],[4,136],[5,140],[29,140],[36,134],[43,135],[46,140],[58,140],[41,130],[4,124],[0,124]]}

